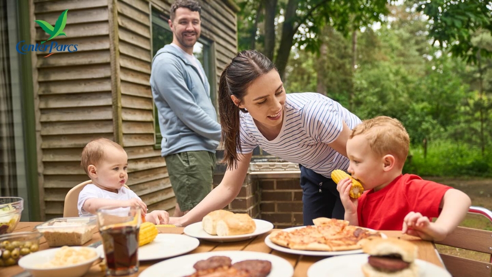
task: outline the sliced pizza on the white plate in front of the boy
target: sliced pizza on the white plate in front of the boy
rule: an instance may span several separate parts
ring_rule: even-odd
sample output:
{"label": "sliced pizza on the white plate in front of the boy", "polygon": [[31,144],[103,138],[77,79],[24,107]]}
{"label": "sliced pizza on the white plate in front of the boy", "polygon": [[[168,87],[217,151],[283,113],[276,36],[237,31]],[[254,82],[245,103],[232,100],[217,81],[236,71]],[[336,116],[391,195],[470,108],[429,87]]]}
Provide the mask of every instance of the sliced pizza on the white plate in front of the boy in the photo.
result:
{"label": "sliced pizza on the white plate in front of the boy", "polygon": [[365,242],[381,238],[381,233],[348,225],[345,220],[318,217],[313,223],[292,231],[273,232],[270,240],[296,250],[344,251],[361,249]]}

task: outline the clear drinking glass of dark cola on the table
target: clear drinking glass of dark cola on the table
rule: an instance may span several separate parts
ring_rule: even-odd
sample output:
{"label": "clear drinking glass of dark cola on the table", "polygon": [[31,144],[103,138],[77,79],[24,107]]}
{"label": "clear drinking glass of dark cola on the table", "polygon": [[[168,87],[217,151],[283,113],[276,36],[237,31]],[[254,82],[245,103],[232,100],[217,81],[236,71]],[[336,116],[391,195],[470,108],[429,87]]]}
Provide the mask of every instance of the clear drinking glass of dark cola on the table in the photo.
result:
{"label": "clear drinking glass of dark cola on the table", "polygon": [[107,274],[129,275],[138,271],[140,215],[141,208],[138,206],[97,210],[97,223],[103,237]]}

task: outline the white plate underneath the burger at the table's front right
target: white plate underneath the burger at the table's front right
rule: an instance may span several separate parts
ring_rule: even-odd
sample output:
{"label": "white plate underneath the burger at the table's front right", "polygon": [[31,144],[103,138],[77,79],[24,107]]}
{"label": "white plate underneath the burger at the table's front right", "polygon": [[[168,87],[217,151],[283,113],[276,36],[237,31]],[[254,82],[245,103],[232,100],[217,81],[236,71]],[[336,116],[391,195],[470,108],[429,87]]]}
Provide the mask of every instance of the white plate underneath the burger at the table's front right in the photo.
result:
{"label": "white plate underneath the burger at the table's front right", "polygon": [[[367,263],[367,254],[337,256],[326,258],[308,269],[308,277],[351,276],[364,277],[362,265]],[[451,277],[444,268],[422,260],[415,260],[420,277]],[[330,273],[330,274],[328,274]]]}

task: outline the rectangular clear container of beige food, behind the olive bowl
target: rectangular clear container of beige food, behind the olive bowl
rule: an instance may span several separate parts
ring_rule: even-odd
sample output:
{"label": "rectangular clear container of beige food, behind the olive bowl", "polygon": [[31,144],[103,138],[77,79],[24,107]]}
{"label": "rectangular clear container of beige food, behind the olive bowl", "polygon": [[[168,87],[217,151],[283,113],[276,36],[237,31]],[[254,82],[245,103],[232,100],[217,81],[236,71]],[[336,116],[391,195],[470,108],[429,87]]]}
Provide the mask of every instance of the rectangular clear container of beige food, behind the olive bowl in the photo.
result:
{"label": "rectangular clear container of beige food, behind the olive bowl", "polygon": [[96,217],[59,217],[36,226],[50,247],[84,245],[92,239]]}

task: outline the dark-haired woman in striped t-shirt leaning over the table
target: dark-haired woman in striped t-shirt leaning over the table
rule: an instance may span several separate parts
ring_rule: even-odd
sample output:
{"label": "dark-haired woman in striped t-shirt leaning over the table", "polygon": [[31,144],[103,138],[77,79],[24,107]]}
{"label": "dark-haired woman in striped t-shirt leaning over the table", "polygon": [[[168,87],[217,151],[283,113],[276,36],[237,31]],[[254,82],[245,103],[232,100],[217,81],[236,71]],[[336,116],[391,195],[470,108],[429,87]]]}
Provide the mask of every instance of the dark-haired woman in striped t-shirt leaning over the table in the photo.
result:
{"label": "dark-haired woman in striped t-shirt leaning over the table", "polygon": [[318,93],[285,94],[273,63],[263,54],[238,53],[220,76],[219,112],[227,171],[222,182],[195,208],[171,224],[186,226],[222,209],[239,193],[253,149],[298,163],[304,225],[316,217],[343,219],[335,169],[346,170],[346,142],[357,116]]}

